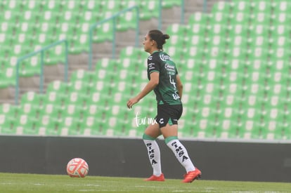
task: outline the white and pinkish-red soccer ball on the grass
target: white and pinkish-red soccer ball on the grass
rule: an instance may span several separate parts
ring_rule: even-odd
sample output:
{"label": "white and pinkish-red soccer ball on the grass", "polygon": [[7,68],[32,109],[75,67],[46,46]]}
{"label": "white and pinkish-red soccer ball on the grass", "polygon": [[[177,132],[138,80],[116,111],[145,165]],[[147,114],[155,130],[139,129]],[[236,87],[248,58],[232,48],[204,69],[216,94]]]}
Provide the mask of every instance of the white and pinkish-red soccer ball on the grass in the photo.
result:
{"label": "white and pinkish-red soccer ball on the grass", "polygon": [[88,172],[89,166],[82,158],[74,158],[67,163],[67,175],[70,177],[84,178]]}

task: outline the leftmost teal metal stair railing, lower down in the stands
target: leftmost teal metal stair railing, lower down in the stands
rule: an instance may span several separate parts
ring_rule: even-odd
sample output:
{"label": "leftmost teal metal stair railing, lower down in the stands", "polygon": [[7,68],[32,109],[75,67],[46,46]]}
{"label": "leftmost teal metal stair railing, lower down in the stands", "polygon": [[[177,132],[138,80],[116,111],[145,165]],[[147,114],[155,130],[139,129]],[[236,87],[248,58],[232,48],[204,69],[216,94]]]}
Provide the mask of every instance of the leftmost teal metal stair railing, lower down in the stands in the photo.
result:
{"label": "leftmost teal metal stair railing, lower down in the stands", "polygon": [[68,45],[67,45],[67,40],[63,39],[60,41],[56,41],[53,44],[50,44],[48,46],[45,46],[44,48],[41,48],[39,51],[34,51],[32,53],[29,53],[27,55],[24,55],[20,58],[18,58],[17,63],[16,63],[16,79],[15,79],[15,105],[18,105],[18,98],[19,98],[19,66],[20,66],[20,62],[22,62],[22,60],[25,60],[27,58],[31,58],[34,55],[37,55],[38,53],[41,53],[41,72],[39,74],[40,76],[40,83],[39,83],[39,92],[42,93],[44,91],[44,51],[53,48],[55,46],[57,46],[58,44],[65,44],[65,81],[67,81],[67,53],[68,53]]}

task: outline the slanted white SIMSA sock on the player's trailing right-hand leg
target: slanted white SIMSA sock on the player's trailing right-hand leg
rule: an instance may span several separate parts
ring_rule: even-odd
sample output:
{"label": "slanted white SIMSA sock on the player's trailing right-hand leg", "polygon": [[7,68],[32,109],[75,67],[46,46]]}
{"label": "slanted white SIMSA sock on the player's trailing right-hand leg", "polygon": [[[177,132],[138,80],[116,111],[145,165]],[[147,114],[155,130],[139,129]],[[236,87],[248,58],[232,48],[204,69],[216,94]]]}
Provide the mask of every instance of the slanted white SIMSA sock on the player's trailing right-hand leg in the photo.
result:
{"label": "slanted white SIMSA sock on the player's trailing right-hand leg", "polygon": [[181,142],[177,139],[171,140],[167,143],[167,146],[172,149],[176,158],[180,162],[180,164],[186,169],[186,172],[195,171],[195,167],[188,156],[188,152],[186,148],[181,144]]}

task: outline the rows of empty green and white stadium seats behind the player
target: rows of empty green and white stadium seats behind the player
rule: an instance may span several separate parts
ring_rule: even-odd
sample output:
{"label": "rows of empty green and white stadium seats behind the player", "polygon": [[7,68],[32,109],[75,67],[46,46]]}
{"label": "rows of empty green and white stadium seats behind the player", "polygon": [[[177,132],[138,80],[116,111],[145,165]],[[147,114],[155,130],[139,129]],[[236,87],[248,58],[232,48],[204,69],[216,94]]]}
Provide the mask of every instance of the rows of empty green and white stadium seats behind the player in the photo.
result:
{"label": "rows of empty green and white stadium seats behind the player", "polygon": [[[138,2],[1,1],[0,88],[13,92],[18,57],[63,37],[75,55],[70,62],[86,62],[89,24]],[[141,21],[157,18],[157,2],[138,4],[145,7]],[[166,2],[165,9],[181,6]],[[177,61],[184,84],[180,137],[290,140],[290,2],[235,0],[212,2],[210,7],[164,29],[171,36],[164,49]],[[131,14],[119,19],[120,32],[133,28]],[[110,30],[104,24],[94,43],[112,41]],[[59,65],[63,55],[62,46],[47,52],[46,66]],[[91,71],[81,64],[72,67],[68,82],[58,75],[46,83],[46,92],[30,89],[19,105],[1,104],[0,133],[140,138],[145,125],[138,121],[155,116],[155,97],[149,94],[131,110],[125,104],[147,82],[148,55],[126,46],[115,59],[103,56],[94,60]],[[39,74],[39,60],[35,56],[22,63],[23,79]]]}

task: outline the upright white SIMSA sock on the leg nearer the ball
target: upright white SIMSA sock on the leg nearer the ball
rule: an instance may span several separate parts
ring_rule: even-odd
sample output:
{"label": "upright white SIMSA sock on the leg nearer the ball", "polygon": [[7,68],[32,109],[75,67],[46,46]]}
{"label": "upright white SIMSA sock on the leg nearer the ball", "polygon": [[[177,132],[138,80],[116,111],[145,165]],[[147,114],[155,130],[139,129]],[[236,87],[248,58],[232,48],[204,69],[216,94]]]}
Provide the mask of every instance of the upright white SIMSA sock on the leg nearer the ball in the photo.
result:
{"label": "upright white SIMSA sock on the leg nearer the ball", "polygon": [[148,158],[153,167],[153,175],[160,176],[162,174],[160,148],[155,140],[143,140],[145,147],[148,149]]}

